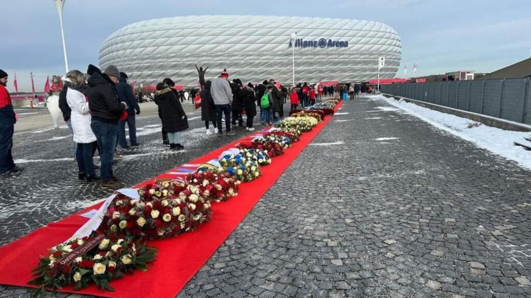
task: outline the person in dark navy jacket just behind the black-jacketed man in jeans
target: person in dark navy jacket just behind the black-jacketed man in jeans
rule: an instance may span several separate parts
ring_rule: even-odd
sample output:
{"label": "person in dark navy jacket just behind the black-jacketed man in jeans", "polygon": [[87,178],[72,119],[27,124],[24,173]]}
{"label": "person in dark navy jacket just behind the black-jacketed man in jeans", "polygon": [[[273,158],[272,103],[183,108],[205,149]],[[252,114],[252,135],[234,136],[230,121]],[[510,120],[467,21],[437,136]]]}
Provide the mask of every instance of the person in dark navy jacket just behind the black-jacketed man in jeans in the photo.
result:
{"label": "person in dark navy jacket just behind the black-jacketed man in jeans", "polygon": [[127,84],[127,75],[125,73],[120,73],[120,80],[118,85],[116,85],[116,91],[118,92],[118,99],[127,103],[127,119],[118,121],[118,143],[122,148],[127,149],[127,139],[125,138],[125,124],[129,127],[129,141],[131,146],[138,146],[139,143],[136,142],[136,121],[135,121],[135,111],[136,115],[140,115],[140,107],[136,98],[134,97],[133,90],[131,85]]}

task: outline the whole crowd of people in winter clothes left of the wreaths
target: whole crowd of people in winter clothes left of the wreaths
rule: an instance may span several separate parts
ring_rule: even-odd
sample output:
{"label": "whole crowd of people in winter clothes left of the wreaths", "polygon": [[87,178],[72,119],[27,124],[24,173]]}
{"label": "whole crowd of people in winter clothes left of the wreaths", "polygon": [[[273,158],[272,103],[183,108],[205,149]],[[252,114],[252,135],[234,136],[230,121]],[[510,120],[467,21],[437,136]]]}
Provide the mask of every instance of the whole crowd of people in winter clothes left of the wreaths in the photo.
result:
{"label": "whole crowd of people in winter clothes left of the wreaths", "polygon": [[[201,69],[200,69],[201,70]],[[16,123],[10,94],[6,89],[7,73],[0,69],[0,176],[15,176],[23,169],[14,164],[11,153],[13,131]],[[139,146],[136,138],[135,115],[140,115],[138,97],[127,83],[127,74],[116,66],[109,65],[104,71],[89,65],[87,73],[78,70],[68,72],[62,79],[64,87],[59,93],[59,108],[63,119],[73,134],[72,153],[78,163],[78,178],[88,182],[99,181],[105,188],[122,187],[113,173],[113,163],[123,157],[117,146],[129,148]],[[205,134],[233,136],[234,130],[245,127],[253,131],[254,118],[260,117],[260,124],[270,125],[284,117],[284,104],[289,98],[290,110],[299,106],[306,108],[321,101],[322,97],[347,95],[354,99],[370,93],[366,84],[323,84],[299,83],[288,90],[275,80],[259,84],[244,84],[241,79],[229,80],[224,70],[212,81],[200,80],[201,120]],[[170,150],[182,150],[182,132],[189,128],[183,109],[183,90],[177,91],[171,78],[165,78],[156,86],[153,101],[158,106],[162,123],[162,144]],[[194,98],[194,90],[190,97]],[[140,95],[143,96],[143,95]],[[260,111],[258,111],[260,110]],[[259,113],[260,114],[259,114]],[[245,123],[244,117],[245,115]],[[225,132],[222,119],[225,118]],[[129,143],[125,126],[129,127]],[[211,127],[212,130],[211,130]],[[100,166],[93,163],[96,151]],[[96,169],[100,169],[100,176]]]}

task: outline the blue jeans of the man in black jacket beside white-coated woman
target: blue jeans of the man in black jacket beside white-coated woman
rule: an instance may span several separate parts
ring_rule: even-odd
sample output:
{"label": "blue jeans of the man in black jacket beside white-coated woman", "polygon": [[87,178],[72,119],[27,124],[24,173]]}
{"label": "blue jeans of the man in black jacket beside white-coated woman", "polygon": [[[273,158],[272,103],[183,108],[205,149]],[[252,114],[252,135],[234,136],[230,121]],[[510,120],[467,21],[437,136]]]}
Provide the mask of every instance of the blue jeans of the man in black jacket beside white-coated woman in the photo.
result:
{"label": "blue jeans of the man in black jacket beside white-coated woman", "polygon": [[116,136],[118,125],[108,124],[92,119],[90,124],[92,132],[96,135],[98,151],[100,153],[100,176],[102,181],[109,181],[113,176],[114,148],[116,147]]}

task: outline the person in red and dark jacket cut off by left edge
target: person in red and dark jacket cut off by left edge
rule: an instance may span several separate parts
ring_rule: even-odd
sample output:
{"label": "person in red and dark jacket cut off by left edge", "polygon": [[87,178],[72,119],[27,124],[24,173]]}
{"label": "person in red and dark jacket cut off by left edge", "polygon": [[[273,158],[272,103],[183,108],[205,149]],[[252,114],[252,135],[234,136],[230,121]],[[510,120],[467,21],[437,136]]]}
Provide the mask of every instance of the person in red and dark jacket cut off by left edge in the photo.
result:
{"label": "person in red and dark jacket cut off by left edge", "polygon": [[13,133],[16,116],[11,102],[11,95],[7,91],[8,75],[0,69],[0,177],[16,176],[23,170],[13,161]]}

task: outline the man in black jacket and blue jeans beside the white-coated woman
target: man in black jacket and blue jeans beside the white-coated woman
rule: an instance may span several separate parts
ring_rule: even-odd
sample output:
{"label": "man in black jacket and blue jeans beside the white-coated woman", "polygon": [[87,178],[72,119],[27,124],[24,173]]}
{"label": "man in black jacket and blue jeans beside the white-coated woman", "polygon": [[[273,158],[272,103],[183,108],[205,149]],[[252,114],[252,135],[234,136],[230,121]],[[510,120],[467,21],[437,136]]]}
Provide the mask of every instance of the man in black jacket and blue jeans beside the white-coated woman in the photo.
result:
{"label": "man in black jacket and blue jeans beside the white-coated woman", "polygon": [[127,109],[125,102],[118,100],[115,84],[118,83],[120,73],[114,65],[109,65],[105,73],[101,73],[96,66],[89,65],[88,80],[89,109],[92,113],[92,132],[96,135],[100,153],[101,186],[118,188],[122,183],[113,175],[113,158],[118,135],[118,120]]}

